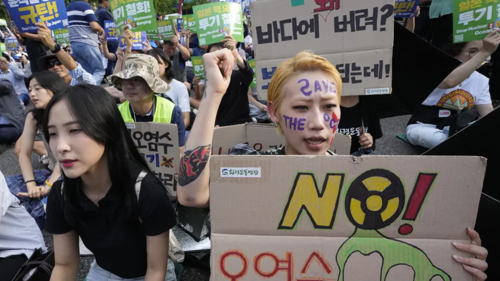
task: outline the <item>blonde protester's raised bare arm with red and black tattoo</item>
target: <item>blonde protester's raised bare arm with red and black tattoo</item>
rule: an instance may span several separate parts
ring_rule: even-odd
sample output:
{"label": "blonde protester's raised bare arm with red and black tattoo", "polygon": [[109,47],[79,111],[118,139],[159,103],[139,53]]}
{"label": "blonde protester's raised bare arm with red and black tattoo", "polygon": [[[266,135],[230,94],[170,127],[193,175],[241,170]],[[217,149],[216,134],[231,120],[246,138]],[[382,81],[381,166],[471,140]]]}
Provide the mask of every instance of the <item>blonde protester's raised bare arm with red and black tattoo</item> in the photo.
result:
{"label": "blonde protester's raised bare arm with red and black tattoo", "polygon": [[208,206],[210,177],[208,164],[213,126],[220,100],[229,85],[237,56],[235,50],[231,52],[227,48],[203,55],[206,98],[199,104],[196,119],[184,146],[184,155],[180,159],[177,198],[185,206]]}

